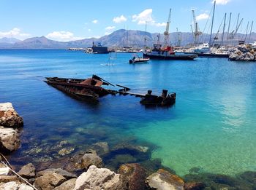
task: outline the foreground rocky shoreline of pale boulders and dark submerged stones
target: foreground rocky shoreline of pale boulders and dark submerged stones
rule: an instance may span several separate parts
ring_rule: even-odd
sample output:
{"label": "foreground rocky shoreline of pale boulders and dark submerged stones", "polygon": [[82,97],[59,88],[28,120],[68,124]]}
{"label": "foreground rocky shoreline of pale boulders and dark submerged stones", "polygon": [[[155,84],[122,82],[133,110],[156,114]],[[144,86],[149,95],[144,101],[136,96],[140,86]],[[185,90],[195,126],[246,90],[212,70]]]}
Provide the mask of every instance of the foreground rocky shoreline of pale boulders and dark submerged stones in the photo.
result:
{"label": "foreground rocky shoreline of pale boulders and dark submerged stones", "polygon": [[[0,103],[0,125],[0,152],[8,155],[18,150],[19,129],[23,126],[22,117],[18,116],[11,103]],[[101,141],[91,144],[84,151],[71,154],[75,151],[74,148],[69,146],[67,140],[62,140],[56,147],[52,147],[59,155],[56,159],[42,158],[36,164],[29,163],[32,154],[40,154],[39,149],[43,149],[43,145],[30,150],[31,154],[28,153],[27,159],[20,158],[26,165],[12,165],[18,175],[36,189],[196,190],[256,187],[256,172],[242,173],[235,178],[200,173],[200,168],[193,168],[181,178],[175,171],[163,167],[160,160],[150,160],[151,149],[148,146],[127,142],[109,146],[107,142]],[[42,154],[42,157],[45,156]],[[108,161],[113,164],[109,165]],[[0,167],[4,165],[0,164]],[[0,175],[0,189],[30,190],[33,187],[9,172],[8,175]]]}

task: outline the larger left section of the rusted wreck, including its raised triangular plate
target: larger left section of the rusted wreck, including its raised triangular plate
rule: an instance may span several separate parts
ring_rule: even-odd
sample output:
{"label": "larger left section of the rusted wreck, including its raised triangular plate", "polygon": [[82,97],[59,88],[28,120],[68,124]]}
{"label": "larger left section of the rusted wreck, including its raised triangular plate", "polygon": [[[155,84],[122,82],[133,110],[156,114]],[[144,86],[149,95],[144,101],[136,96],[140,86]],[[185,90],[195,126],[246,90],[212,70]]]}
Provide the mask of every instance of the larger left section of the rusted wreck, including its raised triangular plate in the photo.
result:
{"label": "larger left section of the rusted wreck, including its raised triangular plate", "polygon": [[97,75],[88,79],[67,79],[59,77],[46,77],[47,84],[81,100],[98,100],[100,97],[113,94],[113,90],[107,90],[102,85],[112,85]]}

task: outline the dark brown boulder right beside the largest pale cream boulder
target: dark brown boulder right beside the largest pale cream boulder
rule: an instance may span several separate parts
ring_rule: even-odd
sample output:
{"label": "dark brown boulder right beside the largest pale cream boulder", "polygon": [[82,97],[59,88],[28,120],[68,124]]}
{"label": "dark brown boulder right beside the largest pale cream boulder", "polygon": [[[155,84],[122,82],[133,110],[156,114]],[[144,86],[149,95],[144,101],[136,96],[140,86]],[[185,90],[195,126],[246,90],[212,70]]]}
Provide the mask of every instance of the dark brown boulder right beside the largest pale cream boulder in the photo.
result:
{"label": "dark brown boulder right beside the largest pale cream boulder", "polygon": [[129,190],[146,189],[146,170],[139,164],[121,165],[118,169],[118,173],[127,178]]}

